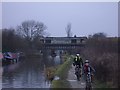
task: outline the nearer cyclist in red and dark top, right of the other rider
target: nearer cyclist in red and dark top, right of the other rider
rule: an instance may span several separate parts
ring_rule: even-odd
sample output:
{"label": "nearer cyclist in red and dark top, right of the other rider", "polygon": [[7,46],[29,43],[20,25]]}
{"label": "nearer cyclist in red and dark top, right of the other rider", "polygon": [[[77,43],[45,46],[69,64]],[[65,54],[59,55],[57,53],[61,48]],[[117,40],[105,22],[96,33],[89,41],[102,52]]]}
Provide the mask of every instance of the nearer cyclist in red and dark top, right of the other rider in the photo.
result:
{"label": "nearer cyclist in red and dark top, right of the other rider", "polygon": [[91,75],[91,82],[93,82],[93,72],[95,72],[95,69],[89,64],[89,60],[86,60],[83,65],[83,72],[85,75],[85,80],[87,80],[87,74],[90,73]]}

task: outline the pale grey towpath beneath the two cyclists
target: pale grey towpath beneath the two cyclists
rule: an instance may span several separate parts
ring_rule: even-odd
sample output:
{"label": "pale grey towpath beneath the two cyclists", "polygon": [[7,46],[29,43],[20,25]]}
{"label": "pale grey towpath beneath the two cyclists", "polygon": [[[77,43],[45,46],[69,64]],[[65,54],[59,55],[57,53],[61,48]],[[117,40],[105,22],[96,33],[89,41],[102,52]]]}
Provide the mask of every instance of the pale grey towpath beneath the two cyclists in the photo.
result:
{"label": "pale grey towpath beneath the two cyclists", "polygon": [[81,78],[80,81],[77,81],[77,78],[74,73],[75,73],[75,67],[72,65],[68,72],[68,77],[67,77],[67,80],[71,84],[71,88],[73,89],[80,88],[80,90],[85,90],[85,81],[83,77]]}

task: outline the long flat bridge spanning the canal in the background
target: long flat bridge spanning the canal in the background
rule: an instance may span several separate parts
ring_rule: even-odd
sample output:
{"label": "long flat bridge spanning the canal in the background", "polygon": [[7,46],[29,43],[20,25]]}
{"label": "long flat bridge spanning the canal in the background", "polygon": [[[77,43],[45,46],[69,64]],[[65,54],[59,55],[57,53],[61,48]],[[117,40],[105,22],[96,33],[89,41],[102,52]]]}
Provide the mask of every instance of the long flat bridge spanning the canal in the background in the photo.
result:
{"label": "long flat bridge spanning the canal in the background", "polygon": [[40,39],[41,50],[71,50],[84,47],[87,37],[44,37]]}

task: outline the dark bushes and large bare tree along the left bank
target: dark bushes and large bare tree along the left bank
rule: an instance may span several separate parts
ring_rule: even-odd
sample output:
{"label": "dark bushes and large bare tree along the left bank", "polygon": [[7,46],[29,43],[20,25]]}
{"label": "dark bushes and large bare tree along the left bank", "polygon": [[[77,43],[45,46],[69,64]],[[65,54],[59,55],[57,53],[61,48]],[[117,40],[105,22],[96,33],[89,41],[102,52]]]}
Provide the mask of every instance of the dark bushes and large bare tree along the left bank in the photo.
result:
{"label": "dark bushes and large bare tree along the left bank", "polygon": [[46,25],[28,20],[16,29],[2,29],[2,51],[27,51],[39,49],[40,38],[45,36]]}

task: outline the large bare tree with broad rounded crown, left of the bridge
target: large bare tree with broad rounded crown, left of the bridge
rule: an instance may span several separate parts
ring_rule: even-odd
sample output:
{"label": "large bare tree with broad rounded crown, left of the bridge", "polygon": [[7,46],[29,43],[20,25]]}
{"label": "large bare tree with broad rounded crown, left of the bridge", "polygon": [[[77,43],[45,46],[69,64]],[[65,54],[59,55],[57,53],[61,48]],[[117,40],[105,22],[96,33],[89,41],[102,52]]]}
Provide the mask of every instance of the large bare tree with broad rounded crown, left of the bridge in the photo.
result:
{"label": "large bare tree with broad rounded crown, left of the bridge", "polygon": [[43,37],[46,28],[42,22],[28,20],[17,27],[17,33],[28,41],[33,41],[36,37]]}

